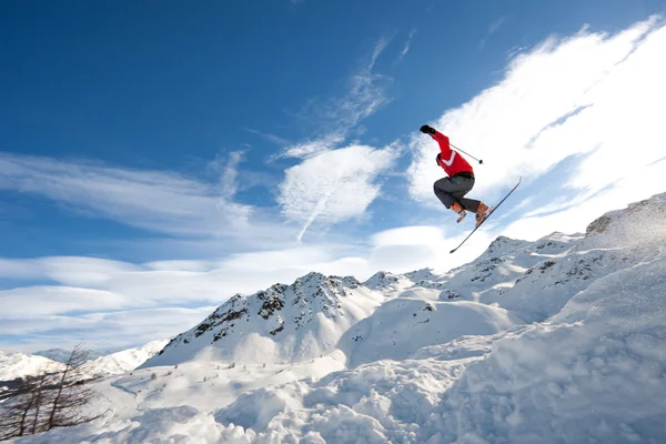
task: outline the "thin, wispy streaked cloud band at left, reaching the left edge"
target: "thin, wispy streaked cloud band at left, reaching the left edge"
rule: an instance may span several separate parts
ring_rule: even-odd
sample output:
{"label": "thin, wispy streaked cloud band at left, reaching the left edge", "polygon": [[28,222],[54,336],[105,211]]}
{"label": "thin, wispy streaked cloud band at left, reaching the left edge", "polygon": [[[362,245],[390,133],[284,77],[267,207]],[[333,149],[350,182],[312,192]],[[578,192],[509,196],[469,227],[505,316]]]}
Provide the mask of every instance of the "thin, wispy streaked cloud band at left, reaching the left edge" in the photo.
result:
{"label": "thin, wispy streaked cloud band at left, reaching the left edge", "polygon": [[[235,162],[235,163],[234,163]],[[252,208],[231,200],[232,154],[221,190],[173,172],[123,170],[0,152],[0,190],[34,193],[133,226],[172,234],[224,235],[248,225]]]}

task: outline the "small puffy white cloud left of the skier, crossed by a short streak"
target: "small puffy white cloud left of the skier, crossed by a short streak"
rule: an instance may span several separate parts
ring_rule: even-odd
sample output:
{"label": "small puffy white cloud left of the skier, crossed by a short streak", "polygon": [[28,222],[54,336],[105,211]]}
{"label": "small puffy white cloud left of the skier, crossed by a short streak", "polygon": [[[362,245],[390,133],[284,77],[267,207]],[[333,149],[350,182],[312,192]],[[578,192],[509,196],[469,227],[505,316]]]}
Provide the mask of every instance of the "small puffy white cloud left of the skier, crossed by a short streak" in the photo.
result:
{"label": "small puffy white cloud left of the skier, crossed by a short streak", "polygon": [[391,167],[395,150],[352,145],[325,151],[286,171],[278,199],[283,214],[304,223],[335,223],[362,215],[379,195],[374,183]]}

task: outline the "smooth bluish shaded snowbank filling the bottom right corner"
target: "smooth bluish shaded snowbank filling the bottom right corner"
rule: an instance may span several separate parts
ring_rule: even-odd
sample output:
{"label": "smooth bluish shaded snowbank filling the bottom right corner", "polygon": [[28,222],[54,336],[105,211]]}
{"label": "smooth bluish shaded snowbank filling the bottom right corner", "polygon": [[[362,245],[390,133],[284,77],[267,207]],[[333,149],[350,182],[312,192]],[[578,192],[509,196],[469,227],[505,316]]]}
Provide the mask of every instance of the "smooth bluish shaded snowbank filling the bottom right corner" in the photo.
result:
{"label": "smooth bluish shaded snowbank filling the bottom right corner", "polygon": [[497,341],[447,392],[440,441],[662,442],[666,260],[603,278],[551,323]]}

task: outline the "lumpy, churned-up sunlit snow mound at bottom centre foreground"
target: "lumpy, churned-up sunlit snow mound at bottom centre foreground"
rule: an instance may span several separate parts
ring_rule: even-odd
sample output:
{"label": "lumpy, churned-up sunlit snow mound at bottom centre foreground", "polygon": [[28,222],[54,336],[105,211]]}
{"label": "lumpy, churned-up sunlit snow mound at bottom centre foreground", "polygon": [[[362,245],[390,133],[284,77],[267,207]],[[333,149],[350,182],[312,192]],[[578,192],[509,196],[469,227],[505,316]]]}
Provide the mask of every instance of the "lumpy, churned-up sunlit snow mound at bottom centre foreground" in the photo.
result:
{"label": "lumpy, churned-up sunlit snow mound at bottom centre foreground", "polygon": [[256,433],[253,442],[415,442],[417,424],[472,361],[375,362],[242,395],[215,418]]}

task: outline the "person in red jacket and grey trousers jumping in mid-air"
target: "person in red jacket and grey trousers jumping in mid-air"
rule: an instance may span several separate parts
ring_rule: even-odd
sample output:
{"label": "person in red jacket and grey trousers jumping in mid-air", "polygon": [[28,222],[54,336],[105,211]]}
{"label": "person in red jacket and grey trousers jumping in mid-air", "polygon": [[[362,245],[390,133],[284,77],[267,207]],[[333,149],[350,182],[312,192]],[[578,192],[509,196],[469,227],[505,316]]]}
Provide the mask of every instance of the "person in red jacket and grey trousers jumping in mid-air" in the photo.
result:
{"label": "person in red jacket and grey trousers jumping in mid-air", "polygon": [[446,135],[428,125],[421,127],[421,132],[430,134],[440,144],[437,165],[442,167],[448,175],[435,182],[435,195],[444,206],[458,214],[457,222],[461,222],[467,211],[471,211],[476,213],[476,226],[481,225],[491,214],[488,206],[481,201],[464,196],[474,186],[474,170],[461,154],[451,149]]}

